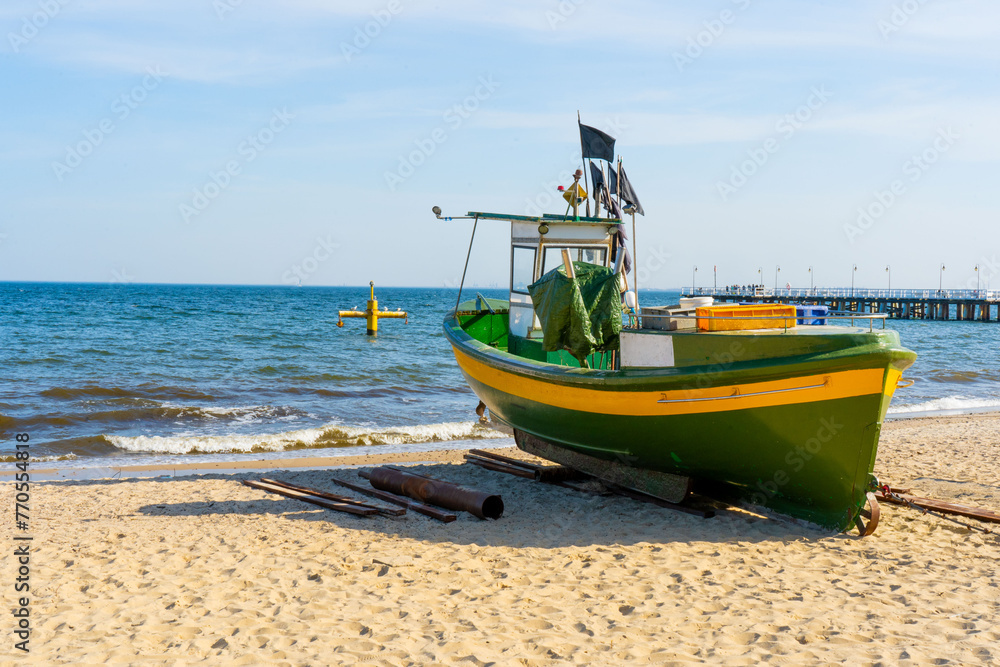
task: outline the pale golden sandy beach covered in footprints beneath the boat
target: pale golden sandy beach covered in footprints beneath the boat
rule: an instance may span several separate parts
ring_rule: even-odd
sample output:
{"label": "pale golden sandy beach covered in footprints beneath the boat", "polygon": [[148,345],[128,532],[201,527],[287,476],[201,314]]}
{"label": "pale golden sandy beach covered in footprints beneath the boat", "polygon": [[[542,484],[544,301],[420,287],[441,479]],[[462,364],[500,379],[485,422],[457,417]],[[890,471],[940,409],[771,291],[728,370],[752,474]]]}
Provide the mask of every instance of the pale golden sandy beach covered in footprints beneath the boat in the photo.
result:
{"label": "pale golden sandy beach covered in footprints beneath the boat", "polygon": [[[388,457],[387,460],[393,459]],[[1000,508],[1000,415],[887,423],[883,481]],[[412,458],[409,460],[413,460]],[[31,652],[4,664],[991,664],[1000,537],[883,505],[873,537],[701,519],[430,452],[499,521],[359,518],[243,486],[261,470],[32,487]],[[338,459],[374,465],[382,460]],[[395,457],[395,462],[405,460]],[[268,476],[336,490],[332,475]],[[13,484],[5,480],[8,502]],[[998,528],[989,524],[984,527]],[[4,544],[15,544],[13,519]],[[1000,530],[994,530],[998,533]],[[8,582],[14,558],[5,560]],[[5,583],[5,606],[15,602]]]}

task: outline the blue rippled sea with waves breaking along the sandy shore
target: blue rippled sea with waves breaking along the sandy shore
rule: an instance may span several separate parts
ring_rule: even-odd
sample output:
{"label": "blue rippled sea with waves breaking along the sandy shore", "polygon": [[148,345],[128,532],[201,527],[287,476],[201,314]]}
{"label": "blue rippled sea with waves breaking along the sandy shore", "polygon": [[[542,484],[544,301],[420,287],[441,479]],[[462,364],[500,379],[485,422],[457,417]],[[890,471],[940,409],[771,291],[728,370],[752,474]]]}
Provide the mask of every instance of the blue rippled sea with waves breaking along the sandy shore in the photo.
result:
{"label": "blue rippled sea with waves breaking along the sandy shore", "polygon": [[[505,297],[502,290],[467,289]],[[502,445],[441,323],[454,288],[0,283],[0,461],[17,434],[48,468]],[[643,304],[674,291],[640,291]],[[879,326],[876,324],[875,326]],[[1000,325],[890,321],[918,353],[893,418],[1000,410]],[[22,436],[23,438],[23,436]],[[495,442],[494,442],[495,441]]]}

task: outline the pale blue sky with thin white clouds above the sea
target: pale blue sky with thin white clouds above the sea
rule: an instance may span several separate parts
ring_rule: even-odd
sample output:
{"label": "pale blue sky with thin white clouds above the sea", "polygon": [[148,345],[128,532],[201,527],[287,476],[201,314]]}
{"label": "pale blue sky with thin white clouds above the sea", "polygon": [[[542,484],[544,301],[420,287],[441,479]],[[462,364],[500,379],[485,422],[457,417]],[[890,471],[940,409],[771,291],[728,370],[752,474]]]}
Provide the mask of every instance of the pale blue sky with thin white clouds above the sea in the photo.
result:
{"label": "pale blue sky with thin white clouds above the sea", "polygon": [[579,111],[640,288],[1000,289],[995,1],[4,0],[0,90],[5,281],[454,286]]}

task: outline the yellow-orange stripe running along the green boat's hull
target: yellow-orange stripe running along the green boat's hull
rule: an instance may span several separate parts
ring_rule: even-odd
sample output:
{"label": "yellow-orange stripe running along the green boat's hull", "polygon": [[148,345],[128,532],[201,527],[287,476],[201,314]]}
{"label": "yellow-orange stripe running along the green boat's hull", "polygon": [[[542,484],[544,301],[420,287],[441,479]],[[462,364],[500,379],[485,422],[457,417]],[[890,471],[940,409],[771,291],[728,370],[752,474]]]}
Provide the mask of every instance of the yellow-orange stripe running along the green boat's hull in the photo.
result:
{"label": "yellow-orange stripe running along the green boat's hull", "polygon": [[705,389],[588,389],[509,373],[473,359],[454,345],[452,349],[462,371],[488,387],[556,408],[606,415],[646,417],[701,414],[882,393],[887,394],[888,398],[896,384],[892,382],[891,386],[887,386],[890,383],[885,381],[885,371],[869,368]]}

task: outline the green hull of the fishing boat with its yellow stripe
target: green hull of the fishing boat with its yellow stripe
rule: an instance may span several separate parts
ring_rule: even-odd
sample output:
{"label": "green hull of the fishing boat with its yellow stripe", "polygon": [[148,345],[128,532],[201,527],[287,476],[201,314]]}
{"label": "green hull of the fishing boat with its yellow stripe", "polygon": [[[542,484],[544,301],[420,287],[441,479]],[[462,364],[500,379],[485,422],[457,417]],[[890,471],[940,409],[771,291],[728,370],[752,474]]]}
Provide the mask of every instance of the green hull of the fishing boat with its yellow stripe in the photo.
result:
{"label": "green hull of the fishing boat with its yellow stripe", "polygon": [[590,370],[557,354],[502,349],[518,347],[504,317],[460,311],[444,324],[494,419],[836,530],[852,527],[865,506],[882,420],[916,357],[895,332],[827,327],[784,339],[692,333],[675,338],[675,367]]}

